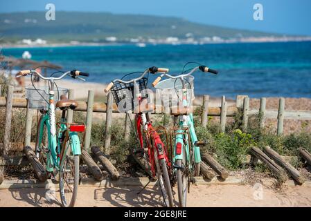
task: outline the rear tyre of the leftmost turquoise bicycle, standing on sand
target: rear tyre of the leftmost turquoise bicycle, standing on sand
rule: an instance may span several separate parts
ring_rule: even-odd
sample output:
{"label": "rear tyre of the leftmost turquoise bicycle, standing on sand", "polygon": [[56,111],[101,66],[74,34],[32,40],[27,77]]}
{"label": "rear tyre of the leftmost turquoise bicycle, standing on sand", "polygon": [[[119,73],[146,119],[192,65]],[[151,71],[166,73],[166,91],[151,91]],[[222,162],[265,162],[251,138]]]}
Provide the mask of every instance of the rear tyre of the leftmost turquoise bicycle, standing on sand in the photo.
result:
{"label": "rear tyre of the leftmost turquoise bicycle, standing on sand", "polygon": [[[69,140],[66,142],[66,144],[69,144]],[[63,157],[66,157],[65,159],[62,159],[60,162],[60,199],[62,201],[62,206],[64,207],[73,207],[75,204],[75,200],[77,198],[78,194],[78,184],[79,184],[79,163],[80,163],[80,155],[72,155],[71,158],[73,157],[73,164],[72,162],[69,162],[69,166],[73,168],[73,182],[71,182],[71,187],[69,187],[69,191],[71,191],[71,198],[66,197],[66,190],[65,190],[65,180],[68,180],[71,177],[67,177],[66,175],[66,167],[67,167],[67,160],[70,160],[69,154],[72,153],[72,149],[70,144],[66,146],[66,149],[64,150]],[[73,167],[72,167],[73,166]],[[69,175],[68,175],[69,176]],[[66,179],[65,179],[66,177]],[[69,179],[68,179],[69,178]],[[69,181],[70,182],[70,181]],[[68,185],[68,183],[66,183]],[[69,186],[69,185],[68,185]]]}

